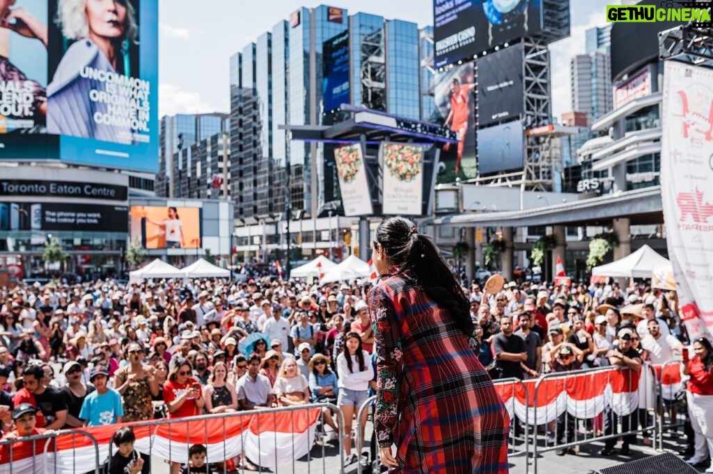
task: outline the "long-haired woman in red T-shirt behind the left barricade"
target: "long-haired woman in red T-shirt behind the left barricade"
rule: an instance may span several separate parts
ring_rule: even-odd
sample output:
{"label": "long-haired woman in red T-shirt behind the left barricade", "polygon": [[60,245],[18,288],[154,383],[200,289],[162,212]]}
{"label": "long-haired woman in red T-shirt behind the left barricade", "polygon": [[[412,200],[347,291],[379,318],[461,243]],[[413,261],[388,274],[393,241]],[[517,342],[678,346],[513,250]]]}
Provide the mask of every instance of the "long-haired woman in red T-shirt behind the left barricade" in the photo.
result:
{"label": "long-haired woman in red T-shirt behind the left barricade", "polygon": [[[185,418],[200,415],[205,406],[198,380],[194,379],[193,367],[188,359],[177,357],[168,371],[168,380],[163,384],[163,401],[168,407],[168,418]],[[178,474],[180,463],[171,463],[171,474]]]}

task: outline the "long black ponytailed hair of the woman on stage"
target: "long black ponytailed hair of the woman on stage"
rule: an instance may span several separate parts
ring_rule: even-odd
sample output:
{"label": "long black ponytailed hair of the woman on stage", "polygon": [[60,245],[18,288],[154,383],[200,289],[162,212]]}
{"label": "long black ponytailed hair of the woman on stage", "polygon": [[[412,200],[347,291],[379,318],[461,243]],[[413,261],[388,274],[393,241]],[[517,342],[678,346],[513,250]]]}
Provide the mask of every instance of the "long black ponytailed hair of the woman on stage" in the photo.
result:
{"label": "long black ponytailed hair of the woman on stage", "polygon": [[[416,230],[414,230],[416,229]],[[471,305],[460,283],[431,239],[418,233],[403,217],[386,218],[376,228],[374,242],[384,248],[399,275],[413,280],[426,295],[446,310],[464,335],[473,334]]]}

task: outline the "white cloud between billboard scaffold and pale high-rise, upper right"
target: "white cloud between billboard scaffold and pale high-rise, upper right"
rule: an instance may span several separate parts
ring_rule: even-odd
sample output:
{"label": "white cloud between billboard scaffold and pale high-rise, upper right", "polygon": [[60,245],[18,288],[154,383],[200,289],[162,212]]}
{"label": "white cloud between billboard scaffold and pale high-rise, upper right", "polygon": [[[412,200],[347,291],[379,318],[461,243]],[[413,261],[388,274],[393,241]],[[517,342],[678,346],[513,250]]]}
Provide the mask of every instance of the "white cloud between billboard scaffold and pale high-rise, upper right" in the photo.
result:
{"label": "white cloud between billboard scaffold and pale high-rise, upper right", "polygon": [[[573,20],[575,17],[573,16]],[[560,119],[564,112],[572,110],[570,87],[570,60],[585,52],[585,30],[603,26],[601,11],[592,11],[583,21],[572,26],[569,38],[550,46],[550,81],[552,90],[552,115]]]}

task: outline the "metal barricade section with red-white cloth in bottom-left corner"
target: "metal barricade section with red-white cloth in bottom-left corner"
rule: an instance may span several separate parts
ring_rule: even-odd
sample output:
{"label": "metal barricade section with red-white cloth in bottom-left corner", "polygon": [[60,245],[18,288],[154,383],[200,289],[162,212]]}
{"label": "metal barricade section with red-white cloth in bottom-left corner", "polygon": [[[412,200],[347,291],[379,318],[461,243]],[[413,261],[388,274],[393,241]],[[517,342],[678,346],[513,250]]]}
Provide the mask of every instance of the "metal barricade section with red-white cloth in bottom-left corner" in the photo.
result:
{"label": "metal barricade section with red-white cloth in bottom-left corner", "polygon": [[[71,460],[58,461],[55,446],[58,438],[71,436]],[[94,436],[84,431],[52,431],[34,436],[24,436],[16,439],[3,439],[0,441],[2,459],[0,473],[13,474],[15,472],[32,473],[66,473],[81,472],[76,466],[77,437],[87,438],[94,451],[94,472],[99,470],[99,444]]]}

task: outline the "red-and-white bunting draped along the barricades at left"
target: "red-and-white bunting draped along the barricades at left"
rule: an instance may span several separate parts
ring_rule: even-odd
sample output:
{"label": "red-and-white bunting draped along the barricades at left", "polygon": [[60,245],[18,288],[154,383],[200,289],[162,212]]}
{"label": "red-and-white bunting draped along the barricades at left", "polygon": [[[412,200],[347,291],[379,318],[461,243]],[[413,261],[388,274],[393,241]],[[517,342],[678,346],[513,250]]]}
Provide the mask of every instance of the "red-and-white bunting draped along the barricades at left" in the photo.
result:
{"label": "red-and-white bunting draped along the barricades at left", "polygon": [[[225,418],[182,418],[158,426],[135,426],[134,448],[155,458],[186,463],[188,448],[202,444],[207,448],[208,463],[219,463],[245,453],[253,463],[259,463],[263,468],[275,468],[307,455],[314,444],[314,430],[320,413],[320,409],[312,409],[247,416],[235,414]],[[98,443],[100,465],[108,457],[113,434],[118,428],[130,425],[122,423],[83,429]],[[43,455],[46,444],[48,453]],[[14,474],[88,473],[95,469],[96,451],[89,438],[81,433],[58,436],[56,441],[36,441],[36,455],[33,455],[31,442],[15,443],[12,460],[7,448],[3,453],[0,473],[9,473],[10,463]],[[112,453],[116,454],[116,447],[112,447]]]}

